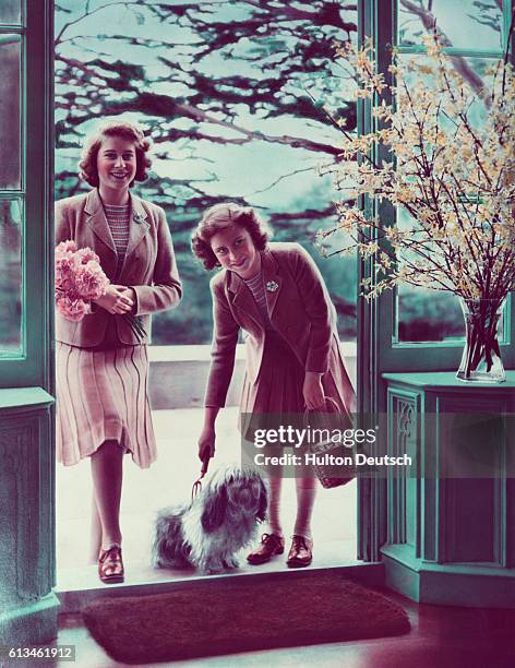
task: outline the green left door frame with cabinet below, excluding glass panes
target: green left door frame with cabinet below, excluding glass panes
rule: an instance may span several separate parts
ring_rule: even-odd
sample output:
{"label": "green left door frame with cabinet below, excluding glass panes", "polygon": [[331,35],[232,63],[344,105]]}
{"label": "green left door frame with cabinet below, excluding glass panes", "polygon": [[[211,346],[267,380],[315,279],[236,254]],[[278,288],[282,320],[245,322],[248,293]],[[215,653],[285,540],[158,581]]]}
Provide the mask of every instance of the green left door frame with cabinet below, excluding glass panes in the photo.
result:
{"label": "green left door frame with cabinet below, excluding glass panes", "polygon": [[[0,37],[19,43],[21,52],[20,119],[17,115],[1,119],[4,128],[13,128],[13,138],[16,123],[21,124],[21,179],[0,190],[2,211],[22,212],[20,220],[5,216],[7,224],[20,224],[21,345],[0,351],[0,645],[4,646],[52,641],[59,608],[52,592],[53,0],[21,0],[20,7],[22,20],[0,26]],[[9,55],[2,65],[15,90],[17,74]]]}

